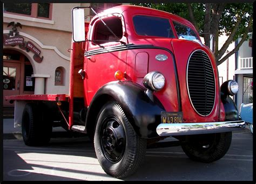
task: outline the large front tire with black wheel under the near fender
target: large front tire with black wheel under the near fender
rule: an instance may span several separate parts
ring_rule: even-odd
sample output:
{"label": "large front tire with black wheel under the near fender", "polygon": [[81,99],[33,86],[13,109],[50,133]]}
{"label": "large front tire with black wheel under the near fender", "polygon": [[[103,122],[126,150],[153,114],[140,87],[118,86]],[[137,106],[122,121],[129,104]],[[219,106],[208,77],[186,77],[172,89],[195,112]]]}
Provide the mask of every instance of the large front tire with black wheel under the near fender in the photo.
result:
{"label": "large front tire with black wheel under the near fender", "polygon": [[94,143],[104,171],[125,178],[142,165],[147,141],[137,136],[120,105],[109,102],[99,112]]}

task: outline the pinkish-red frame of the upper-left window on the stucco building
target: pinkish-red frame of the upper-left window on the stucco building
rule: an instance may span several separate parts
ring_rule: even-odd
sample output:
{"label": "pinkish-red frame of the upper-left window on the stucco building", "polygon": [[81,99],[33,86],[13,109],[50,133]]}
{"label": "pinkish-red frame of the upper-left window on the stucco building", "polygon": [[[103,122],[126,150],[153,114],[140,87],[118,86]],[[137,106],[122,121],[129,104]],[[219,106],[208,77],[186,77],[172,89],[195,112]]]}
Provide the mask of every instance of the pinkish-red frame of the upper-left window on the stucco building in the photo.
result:
{"label": "pinkish-red frame of the upper-left window on the stucco building", "polygon": [[32,18],[39,18],[39,19],[45,19],[45,20],[52,20],[52,8],[53,8],[53,3],[49,3],[50,7],[49,7],[49,18],[46,17],[38,17],[38,4],[39,3],[31,3],[31,15],[25,15],[22,13],[15,13],[15,12],[9,12],[4,10],[4,13],[9,13],[12,15],[18,15],[18,16],[24,16],[24,17],[32,17]]}

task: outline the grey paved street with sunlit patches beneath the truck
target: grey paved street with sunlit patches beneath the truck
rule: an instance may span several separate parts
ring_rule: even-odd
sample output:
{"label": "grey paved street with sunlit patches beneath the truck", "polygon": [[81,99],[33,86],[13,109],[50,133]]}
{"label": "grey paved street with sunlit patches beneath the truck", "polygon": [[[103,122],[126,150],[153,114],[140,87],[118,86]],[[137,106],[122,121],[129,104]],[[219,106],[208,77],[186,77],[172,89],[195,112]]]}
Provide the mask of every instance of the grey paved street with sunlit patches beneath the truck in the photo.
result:
{"label": "grey paved street with sunlit patches beneath the truck", "polygon": [[[221,160],[203,164],[188,159],[181,147],[148,149],[136,174],[123,180],[252,181],[253,136],[233,132],[230,150]],[[51,139],[49,146],[25,146],[21,137],[4,139],[4,181],[118,180],[104,173],[87,137]]]}

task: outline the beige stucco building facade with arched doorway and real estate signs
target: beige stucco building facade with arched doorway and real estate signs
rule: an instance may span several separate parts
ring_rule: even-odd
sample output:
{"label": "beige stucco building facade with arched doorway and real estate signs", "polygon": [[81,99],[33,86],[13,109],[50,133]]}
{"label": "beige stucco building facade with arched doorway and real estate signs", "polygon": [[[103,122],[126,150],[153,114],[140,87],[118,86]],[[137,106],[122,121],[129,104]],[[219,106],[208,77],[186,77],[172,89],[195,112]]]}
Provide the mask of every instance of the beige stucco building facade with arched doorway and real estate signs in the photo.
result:
{"label": "beige stucco building facade with arched doorway and real estate signs", "polygon": [[[71,10],[113,3],[4,3],[3,98],[6,95],[69,94]],[[85,9],[87,21],[95,16]],[[4,107],[10,107],[3,100]]]}

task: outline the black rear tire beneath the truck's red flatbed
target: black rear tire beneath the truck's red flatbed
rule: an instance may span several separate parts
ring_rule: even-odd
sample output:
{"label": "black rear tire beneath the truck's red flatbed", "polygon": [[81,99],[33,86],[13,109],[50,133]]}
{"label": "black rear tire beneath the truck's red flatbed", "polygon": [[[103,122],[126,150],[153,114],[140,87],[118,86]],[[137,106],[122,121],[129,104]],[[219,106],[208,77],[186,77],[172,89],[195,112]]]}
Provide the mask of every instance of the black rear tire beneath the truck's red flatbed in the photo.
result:
{"label": "black rear tire beneath the truck's red flatbed", "polygon": [[25,145],[47,145],[51,139],[52,123],[45,108],[28,103],[22,115],[22,137]]}

